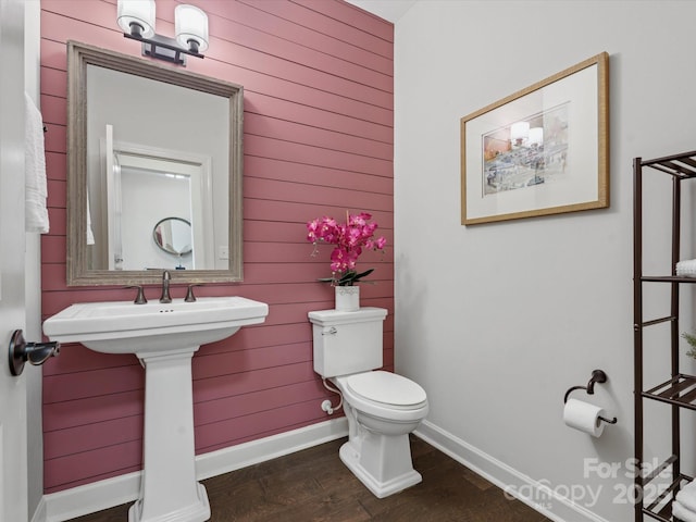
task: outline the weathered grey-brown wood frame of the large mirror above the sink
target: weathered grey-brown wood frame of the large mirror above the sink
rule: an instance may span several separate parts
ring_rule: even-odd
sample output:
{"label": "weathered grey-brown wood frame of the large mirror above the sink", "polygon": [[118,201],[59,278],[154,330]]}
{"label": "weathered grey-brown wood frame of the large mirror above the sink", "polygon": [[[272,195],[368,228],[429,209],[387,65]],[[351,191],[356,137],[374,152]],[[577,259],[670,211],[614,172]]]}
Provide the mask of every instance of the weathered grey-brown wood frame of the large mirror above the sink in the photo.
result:
{"label": "weathered grey-brown wood frame of the large mirror above the sink", "polygon": [[182,283],[243,279],[243,121],[244,88],[199,74],[160,65],[97,47],[67,42],[67,286],[141,285],[159,281],[159,271],[114,271],[88,268],[87,252],[87,66],[97,65],[229,100],[229,206],[227,270],[172,271]]}

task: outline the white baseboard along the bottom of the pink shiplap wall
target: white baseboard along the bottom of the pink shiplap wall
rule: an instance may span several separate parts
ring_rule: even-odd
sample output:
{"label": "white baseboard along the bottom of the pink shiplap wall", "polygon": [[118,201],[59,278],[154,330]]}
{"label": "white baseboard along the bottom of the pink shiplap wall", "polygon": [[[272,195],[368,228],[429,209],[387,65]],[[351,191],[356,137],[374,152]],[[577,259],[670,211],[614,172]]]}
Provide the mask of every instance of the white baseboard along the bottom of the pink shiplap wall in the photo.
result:
{"label": "white baseboard along the bottom of the pink shiplap wall", "polygon": [[[345,417],[196,457],[199,481],[348,435]],[[63,522],[138,498],[140,472],[44,495],[32,522]]]}

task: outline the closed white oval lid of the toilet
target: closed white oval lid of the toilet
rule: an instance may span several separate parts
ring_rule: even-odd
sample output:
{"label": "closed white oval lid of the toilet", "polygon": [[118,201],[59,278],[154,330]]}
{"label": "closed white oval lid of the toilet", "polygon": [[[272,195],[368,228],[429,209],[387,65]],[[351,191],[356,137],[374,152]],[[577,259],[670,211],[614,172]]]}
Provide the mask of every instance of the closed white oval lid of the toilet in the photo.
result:
{"label": "closed white oval lid of the toilet", "polygon": [[427,397],[413,381],[395,373],[376,371],[350,375],[348,387],[374,402],[394,406],[420,405]]}

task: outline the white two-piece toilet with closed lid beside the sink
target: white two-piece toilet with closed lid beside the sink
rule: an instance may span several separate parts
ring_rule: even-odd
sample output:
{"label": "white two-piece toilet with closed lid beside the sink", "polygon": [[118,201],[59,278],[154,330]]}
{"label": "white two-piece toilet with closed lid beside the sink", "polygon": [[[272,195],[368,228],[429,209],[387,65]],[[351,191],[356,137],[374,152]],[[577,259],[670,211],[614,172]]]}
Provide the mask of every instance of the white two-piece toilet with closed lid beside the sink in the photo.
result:
{"label": "white two-piece toilet with closed lid beside the sink", "polygon": [[340,460],[376,497],[422,481],[413,469],[409,433],[427,414],[425,390],[382,368],[382,325],[387,311],[309,312],[313,324],[314,371],[340,391],[348,442]]}

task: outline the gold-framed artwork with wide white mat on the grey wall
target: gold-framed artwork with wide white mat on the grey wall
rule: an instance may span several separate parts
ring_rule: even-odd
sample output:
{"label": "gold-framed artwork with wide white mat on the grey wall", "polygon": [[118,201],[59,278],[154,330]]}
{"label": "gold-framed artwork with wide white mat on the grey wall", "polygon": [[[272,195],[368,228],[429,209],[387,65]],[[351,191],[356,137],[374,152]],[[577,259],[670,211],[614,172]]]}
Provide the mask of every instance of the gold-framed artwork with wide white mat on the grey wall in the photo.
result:
{"label": "gold-framed artwork with wide white mat on the grey wall", "polygon": [[609,207],[609,54],[461,119],[461,222]]}

